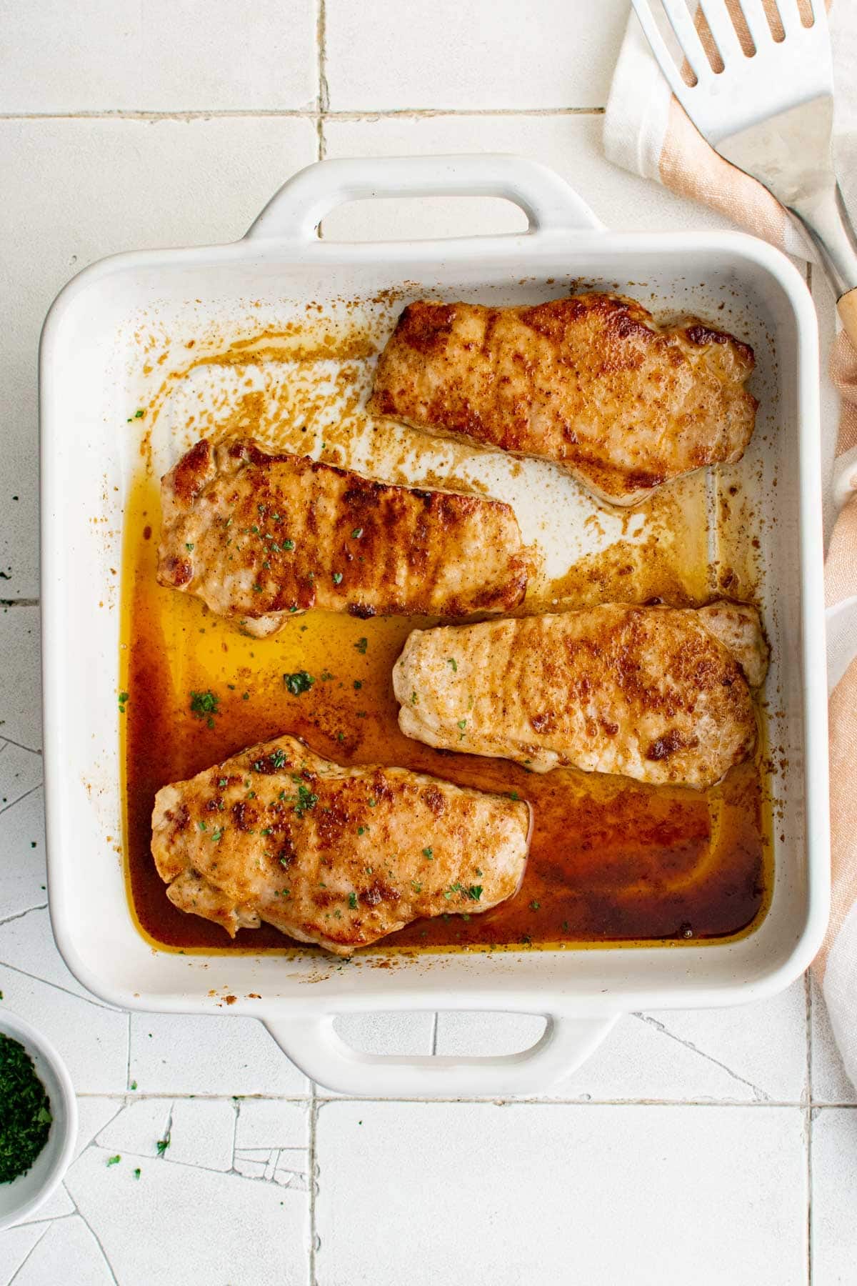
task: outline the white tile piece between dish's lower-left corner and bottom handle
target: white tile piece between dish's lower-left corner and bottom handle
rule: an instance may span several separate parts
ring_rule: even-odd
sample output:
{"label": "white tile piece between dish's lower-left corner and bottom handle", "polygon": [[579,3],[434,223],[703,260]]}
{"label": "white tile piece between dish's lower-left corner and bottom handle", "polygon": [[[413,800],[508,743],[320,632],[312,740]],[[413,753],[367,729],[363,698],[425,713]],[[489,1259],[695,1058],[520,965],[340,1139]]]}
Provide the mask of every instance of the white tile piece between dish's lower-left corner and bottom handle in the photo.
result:
{"label": "white tile piece between dish's lower-left corner and bottom handle", "polygon": [[284,1094],[310,1082],[256,1019],[131,1015],[130,1075],[145,1094]]}

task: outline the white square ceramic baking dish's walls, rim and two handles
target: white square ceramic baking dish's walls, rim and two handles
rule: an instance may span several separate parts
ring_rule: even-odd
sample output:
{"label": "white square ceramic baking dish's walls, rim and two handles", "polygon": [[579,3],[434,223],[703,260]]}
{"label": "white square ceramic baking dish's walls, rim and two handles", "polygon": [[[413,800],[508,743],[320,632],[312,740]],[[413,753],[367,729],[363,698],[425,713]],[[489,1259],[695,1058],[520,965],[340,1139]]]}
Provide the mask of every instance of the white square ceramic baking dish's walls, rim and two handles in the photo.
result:
{"label": "white square ceramic baking dish's walls, rim and two handles", "polygon": [[[506,197],[528,215],[528,233],[385,244],[317,237],[322,216],[348,199],[452,193]],[[500,291],[515,302],[569,276],[645,283],[646,300],[693,300],[703,315],[738,298],[757,347],[773,413],[748,468],[766,505],[759,595],[773,644],[770,737],[781,750],[767,916],[720,944],[425,954],[394,968],[374,968],[371,953],[342,968],[317,955],[153,950],[126,900],[116,700],[140,328],[184,336],[200,319],[245,312],[248,301],[263,316],[287,297],[369,297],[403,282],[412,294]],[[623,1012],[725,1006],[785,988],[815,955],[829,900],[817,381],[811,298],[777,251],[738,233],[605,231],[556,175],[513,157],[321,162],[292,179],[234,246],[121,255],[81,273],[55,301],[41,347],[49,894],[73,974],[130,1008],[260,1017],[310,1076],[342,1092],[445,1097],[542,1092]],[[524,1011],[549,1022],[529,1051],[469,1061],[369,1056],[333,1029],[346,1011],[436,1008]]]}

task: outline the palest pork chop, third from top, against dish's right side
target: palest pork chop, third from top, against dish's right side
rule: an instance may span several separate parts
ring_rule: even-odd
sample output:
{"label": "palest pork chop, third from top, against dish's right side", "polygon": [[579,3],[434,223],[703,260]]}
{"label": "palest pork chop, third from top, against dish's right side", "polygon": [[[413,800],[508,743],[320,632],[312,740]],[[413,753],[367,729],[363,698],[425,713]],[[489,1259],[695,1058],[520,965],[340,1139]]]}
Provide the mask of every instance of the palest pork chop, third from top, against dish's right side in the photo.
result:
{"label": "palest pork chop, third from top, against dish's right side", "polygon": [[608,603],[414,630],[393,669],[398,725],[441,750],[705,787],[752,754],[755,611]]}

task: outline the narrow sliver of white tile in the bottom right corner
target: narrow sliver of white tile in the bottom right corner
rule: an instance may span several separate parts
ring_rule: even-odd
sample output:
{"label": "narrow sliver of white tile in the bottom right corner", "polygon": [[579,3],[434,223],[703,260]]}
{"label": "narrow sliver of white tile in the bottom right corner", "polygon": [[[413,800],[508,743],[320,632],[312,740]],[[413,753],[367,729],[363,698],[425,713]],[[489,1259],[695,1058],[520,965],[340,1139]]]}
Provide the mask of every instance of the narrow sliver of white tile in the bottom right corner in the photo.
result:
{"label": "narrow sliver of white tile in the bottom right corner", "polygon": [[818,1107],[812,1114],[812,1281],[857,1281],[857,1111]]}

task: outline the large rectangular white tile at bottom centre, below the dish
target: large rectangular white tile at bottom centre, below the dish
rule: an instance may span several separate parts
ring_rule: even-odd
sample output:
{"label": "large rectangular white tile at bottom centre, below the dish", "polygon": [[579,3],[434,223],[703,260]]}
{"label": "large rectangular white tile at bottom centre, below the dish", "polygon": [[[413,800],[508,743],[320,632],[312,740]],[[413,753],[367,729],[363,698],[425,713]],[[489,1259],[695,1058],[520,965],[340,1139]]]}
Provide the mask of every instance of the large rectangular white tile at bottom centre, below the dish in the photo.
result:
{"label": "large rectangular white tile at bottom centre, below the dish", "polygon": [[[324,1103],[319,1286],[797,1286],[803,1120],[789,1107]],[[365,1235],[379,1220],[396,1229],[383,1254]]]}

